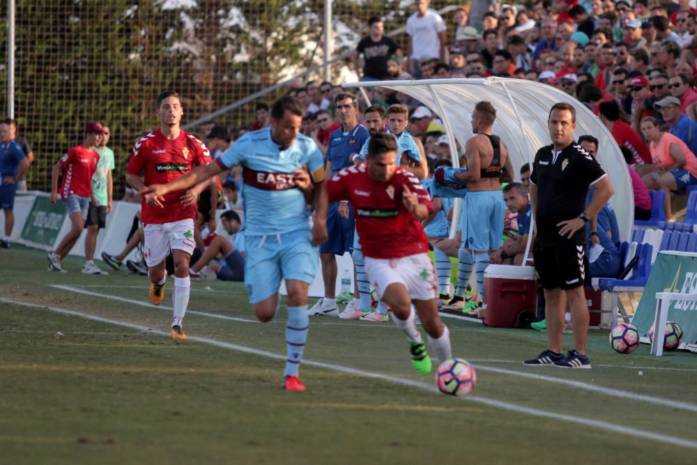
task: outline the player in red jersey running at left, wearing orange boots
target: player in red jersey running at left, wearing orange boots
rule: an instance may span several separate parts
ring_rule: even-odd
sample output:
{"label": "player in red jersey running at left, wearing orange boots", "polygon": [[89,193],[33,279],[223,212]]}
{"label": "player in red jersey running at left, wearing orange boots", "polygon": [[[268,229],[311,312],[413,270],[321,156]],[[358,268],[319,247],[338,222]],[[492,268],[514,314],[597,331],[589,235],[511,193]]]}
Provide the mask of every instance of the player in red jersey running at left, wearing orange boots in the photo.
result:
{"label": "player in red jersey running at left, wearing orange boots", "polygon": [[[187,174],[194,165],[210,163],[210,153],[204,143],[179,126],[184,110],[176,92],[160,93],[157,114],[160,129],[136,142],[128,161],[126,181],[138,191],[151,184],[167,184]],[[142,180],[141,174],[144,174]],[[207,187],[208,183],[203,182],[189,190],[169,192],[150,200],[143,197],[141,201],[150,298],[155,305],[160,305],[164,298],[165,259],[169,252],[174,258],[174,319],[170,335],[176,340],[186,340],[182,319],[191,287],[189,261],[194,251],[196,201]]]}

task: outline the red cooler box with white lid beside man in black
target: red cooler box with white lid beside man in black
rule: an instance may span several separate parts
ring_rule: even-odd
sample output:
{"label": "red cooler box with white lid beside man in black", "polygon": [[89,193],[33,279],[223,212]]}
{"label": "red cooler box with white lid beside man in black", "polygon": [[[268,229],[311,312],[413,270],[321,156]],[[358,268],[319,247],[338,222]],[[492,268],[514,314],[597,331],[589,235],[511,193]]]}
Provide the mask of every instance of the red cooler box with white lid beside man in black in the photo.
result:
{"label": "red cooler box with white lid beside man in black", "polygon": [[521,328],[535,321],[537,281],[533,266],[489,265],[484,271],[484,324]]}

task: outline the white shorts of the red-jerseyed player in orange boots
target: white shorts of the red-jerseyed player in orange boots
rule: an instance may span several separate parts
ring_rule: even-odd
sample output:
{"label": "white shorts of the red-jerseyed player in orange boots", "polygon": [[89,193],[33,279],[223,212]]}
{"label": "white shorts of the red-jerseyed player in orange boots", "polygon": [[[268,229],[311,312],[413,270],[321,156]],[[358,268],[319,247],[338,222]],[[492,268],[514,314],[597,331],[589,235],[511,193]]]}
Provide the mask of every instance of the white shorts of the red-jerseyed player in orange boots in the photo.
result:
{"label": "white shorts of the red-jerseyed player in orange boots", "polygon": [[183,250],[187,254],[194,253],[194,220],[174,221],[162,224],[146,224],[145,261],[148,267],[156,266],[167,258],[174,249]]}

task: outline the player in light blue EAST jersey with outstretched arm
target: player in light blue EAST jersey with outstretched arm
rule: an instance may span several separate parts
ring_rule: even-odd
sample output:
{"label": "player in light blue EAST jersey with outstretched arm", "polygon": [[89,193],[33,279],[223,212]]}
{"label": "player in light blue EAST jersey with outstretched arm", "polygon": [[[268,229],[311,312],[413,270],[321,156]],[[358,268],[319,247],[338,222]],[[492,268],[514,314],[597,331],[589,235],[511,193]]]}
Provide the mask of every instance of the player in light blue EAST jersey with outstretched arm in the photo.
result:
{"label": "player in light blue EAST jersey with outstretched arm", "polygon": [[172,183],[151,185],[142,191],[146,199],[159,198],[242,165],[245,287],[256,318],[266,323],[275,317],[278,289],[282,279],[286,282],[288,358],[283,387],[287,390],[305,390],[298,368],[309,327],[307,289],[316,274],[316,246],[327,238],[325,222],[315,221],[312,231],[309,225],[307,200],[312,192],[319,218],[323,218],[326,204],[321,195],[322,154],[312,139],[300,134],[304,113],[296,98],[279,98],[271,109],[269,128],[247,132],[215,163],[197,167]]}

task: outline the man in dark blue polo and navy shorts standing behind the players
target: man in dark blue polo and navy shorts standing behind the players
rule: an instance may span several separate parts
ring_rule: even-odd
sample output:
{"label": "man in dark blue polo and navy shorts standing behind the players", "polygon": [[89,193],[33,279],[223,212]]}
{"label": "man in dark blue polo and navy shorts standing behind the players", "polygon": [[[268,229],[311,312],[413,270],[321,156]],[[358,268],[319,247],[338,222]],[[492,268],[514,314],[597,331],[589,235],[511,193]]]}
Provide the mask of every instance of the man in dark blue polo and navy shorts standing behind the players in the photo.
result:
{"label": "man in dark blue polo and navy shorts standing behind the players", "polygon": [[[368,138],[368,130],[358,124],[358,97],[351,92],[339,93],[335,99],[336,112],[342,124],[329,136],[326,153],[327,174],[334,176],[344,168],[353,166],[353,160],[360,153],[360,148]],[[353,250],[353,231],[355,220],[347,201],[332,202],[327,210],[328,241],[319,247],[324,282],[324,297],[310,310],[310,315],[339,315],[336,303],[337,259]],[[360,318],[353,307],[344,310],[342,318]]]}

